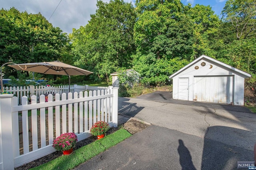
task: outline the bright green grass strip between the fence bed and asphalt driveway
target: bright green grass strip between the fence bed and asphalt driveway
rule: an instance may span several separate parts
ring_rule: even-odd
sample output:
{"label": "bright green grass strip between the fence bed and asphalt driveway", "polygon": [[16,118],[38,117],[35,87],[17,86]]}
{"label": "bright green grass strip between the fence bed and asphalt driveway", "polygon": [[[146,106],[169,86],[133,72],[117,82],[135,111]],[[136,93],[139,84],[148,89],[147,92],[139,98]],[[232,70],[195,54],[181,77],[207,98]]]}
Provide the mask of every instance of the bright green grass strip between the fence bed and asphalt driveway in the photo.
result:
{"label": "bright green grass strip between the fence bed and asphalt driveway", "polygon": [[128,137],[132,136],[125,129],[119,129],[118,131],[107,135],[106,137],[94,141],[84,147],[81,147],[70,155],[62,155],[50,162],[32,168],[31,170],[70,170],[89,160],[90,158],[104,152],[105,150],[113,147],[114,145],[124,141]]}

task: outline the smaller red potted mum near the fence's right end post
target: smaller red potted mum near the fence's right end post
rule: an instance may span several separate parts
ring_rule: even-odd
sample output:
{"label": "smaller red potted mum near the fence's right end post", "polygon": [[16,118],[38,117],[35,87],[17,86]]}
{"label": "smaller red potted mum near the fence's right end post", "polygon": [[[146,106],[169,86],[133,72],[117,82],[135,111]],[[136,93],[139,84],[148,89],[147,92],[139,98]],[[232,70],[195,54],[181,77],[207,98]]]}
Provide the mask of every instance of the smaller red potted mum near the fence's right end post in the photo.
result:
{"label": "smaller red potted mum near the fence's right end post", "polygon": [[98,139],[101,139],[105,136],[105,133],[110,129],[109,125],[105,121],[97,121],[91,127],[90,132],[92,135],[97,136]]}

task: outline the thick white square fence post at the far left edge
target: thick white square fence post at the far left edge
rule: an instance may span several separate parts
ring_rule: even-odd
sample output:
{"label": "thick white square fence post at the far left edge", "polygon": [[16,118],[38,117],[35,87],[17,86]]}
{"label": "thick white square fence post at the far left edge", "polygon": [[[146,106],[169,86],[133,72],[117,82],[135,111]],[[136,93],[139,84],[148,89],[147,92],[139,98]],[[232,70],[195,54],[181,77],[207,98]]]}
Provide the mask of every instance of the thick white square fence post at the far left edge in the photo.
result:
{"label": "thick white square fence post at the far left edge", "polygon": [[13,139],[12,139],[12,97],[13,94],[0,95],[1,131],[3,169],[14,170]]}

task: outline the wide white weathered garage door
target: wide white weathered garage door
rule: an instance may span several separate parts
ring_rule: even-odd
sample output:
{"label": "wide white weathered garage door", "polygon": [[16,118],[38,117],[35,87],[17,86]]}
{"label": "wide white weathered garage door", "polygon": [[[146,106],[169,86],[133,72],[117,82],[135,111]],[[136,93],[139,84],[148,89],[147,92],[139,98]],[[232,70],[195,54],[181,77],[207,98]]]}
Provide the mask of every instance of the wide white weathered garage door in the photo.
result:
{"label": "wide white weathered garage door", "polygon": [[230,104],[233,102],[233,76],[195,76],[194,100]]}

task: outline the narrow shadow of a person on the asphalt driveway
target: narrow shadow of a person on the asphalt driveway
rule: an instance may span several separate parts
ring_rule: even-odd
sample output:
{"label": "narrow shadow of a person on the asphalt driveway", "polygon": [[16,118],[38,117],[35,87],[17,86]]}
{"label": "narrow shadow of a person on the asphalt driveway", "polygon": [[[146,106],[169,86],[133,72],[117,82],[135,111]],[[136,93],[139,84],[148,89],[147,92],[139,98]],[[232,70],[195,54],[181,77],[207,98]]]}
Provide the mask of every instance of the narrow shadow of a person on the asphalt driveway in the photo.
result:
{"label": "narrow shadow of a person on the asphalt driveway", "polygon": [[178,153],[180,155],[180,165],[182,170],[196,170],[192,162],[192,157],[187,147],[185,147],[183,141],[179,139]]}

